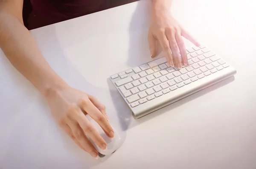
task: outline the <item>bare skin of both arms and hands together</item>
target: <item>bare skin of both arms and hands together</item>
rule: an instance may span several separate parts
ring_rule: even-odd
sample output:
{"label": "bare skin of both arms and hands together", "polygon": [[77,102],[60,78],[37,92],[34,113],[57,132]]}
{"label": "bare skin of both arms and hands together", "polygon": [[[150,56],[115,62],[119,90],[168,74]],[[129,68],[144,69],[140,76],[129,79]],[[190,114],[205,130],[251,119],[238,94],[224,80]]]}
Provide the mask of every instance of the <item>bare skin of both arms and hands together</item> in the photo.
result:
{"label": "bare skin of both arms and hands together", "polygon": [[[151,56],[155,57],[156,42],[160,42],[170,65],[181,67],[178,57],[187,63],[181,36],[199,44],[171,16],[171,0],[152,0],[151,24],[148,32]],[[49,66],[35,39],[23,24],[23,0],[0,0],[0,48],[12,65],[26,77],[47,99],[52,116],[62,129],[84,151],[94,158],[99,152],[90,143],[90,137],[102,149],[107,143],[94,129],[87,115],[92,117],[109,137],[114,137],[105,106],[95,97],[70,87]],[[86,136],[86,135],[87,136]]]}

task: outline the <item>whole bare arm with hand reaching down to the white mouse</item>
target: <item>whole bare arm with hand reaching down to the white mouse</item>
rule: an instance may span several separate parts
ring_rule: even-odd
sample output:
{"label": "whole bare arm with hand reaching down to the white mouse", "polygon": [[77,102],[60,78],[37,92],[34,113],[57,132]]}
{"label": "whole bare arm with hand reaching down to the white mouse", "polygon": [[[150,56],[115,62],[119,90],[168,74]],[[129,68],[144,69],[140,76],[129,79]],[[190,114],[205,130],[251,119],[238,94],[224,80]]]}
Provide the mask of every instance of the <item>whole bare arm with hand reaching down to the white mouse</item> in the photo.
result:
{"label": "whole bare arm with hand reaching down to the white mouse", "polygon": [[97,158],[98,152],[84,133],[102,149],[107,143],[84,112],[96,120],[109,137],[113,137],[105,106],[93,96],[68,86],[53,71],[23,25],[22,6],[23,0],[0,0],[0,48],[12,65],[47,98],[52,115],[62,129],[81,149]]}

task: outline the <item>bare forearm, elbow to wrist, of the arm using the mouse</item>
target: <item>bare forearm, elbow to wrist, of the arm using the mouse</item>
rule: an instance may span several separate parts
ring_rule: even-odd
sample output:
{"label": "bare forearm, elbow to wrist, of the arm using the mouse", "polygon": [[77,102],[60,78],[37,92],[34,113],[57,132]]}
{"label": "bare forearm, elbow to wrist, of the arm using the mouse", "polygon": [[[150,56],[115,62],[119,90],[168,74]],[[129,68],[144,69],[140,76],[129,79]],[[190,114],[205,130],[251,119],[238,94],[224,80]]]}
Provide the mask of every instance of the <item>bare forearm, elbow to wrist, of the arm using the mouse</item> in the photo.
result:
{"label": "bare forearm, elbow to wrist, of the arm using the mouse", "polygon": [[4,12],[0,13],[0,48],[12,65],[43,95],[67,85],[51,69],[23,23]]}

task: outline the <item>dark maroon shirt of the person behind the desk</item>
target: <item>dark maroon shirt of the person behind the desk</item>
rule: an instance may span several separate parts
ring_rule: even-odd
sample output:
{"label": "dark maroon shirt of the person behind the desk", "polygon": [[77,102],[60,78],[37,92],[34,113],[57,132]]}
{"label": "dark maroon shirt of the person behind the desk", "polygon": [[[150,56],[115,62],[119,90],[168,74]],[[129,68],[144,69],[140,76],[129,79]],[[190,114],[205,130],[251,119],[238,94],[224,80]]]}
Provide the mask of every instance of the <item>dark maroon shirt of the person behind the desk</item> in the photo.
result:
{"label": "dark maroon shirt of the person behind the desk", "polygon": [[110,0],[30,0],[34,20],[49,25],[107,9]]}

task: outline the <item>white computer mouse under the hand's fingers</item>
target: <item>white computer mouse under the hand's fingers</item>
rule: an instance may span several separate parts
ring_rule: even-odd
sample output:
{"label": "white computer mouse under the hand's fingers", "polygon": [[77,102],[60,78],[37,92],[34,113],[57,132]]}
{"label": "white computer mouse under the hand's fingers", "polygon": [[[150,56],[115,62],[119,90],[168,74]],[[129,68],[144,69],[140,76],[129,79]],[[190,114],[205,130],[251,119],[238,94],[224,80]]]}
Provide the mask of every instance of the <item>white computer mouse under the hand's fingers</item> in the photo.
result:
{"label": "white computer mouse under the hand's fingers", "polygon": [[89,120],[90,120],[90,123],[93,125],[93,127],[99,132],[99,135],[102,136],[102,138],[106,141],[107,143],[107,149],[103,150],[101,149],[99,146],[96,145],[96,143],[93,142],[93,140],[90,140],[90,142],[93,144],[93,146],[96,148],[96,150],[102,154],[102,155],[110,155],[112,154],[113,152],[115,152],[120,144],[121,144],[121,137],[120,135],[118,134],[118,132],[113,128],[113,131],[114,131],[114,137],[108,137],[105,132],[103,131],[103,129],[101,128],[101,126],[99,126],[98,123],[96,123],[96,121],[94,121],[92,118],[90,117],[87,117]]}

